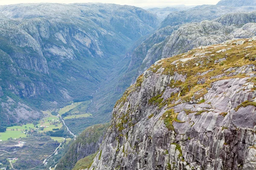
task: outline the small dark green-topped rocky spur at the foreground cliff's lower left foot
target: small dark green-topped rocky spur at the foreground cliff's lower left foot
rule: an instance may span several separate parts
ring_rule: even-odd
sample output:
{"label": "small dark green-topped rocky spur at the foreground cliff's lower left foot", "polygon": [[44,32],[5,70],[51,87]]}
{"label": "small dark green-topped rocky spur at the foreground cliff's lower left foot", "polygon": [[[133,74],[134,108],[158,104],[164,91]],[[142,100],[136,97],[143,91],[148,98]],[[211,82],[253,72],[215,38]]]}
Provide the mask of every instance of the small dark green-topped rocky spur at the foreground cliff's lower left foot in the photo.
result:
{"label": "small dark green-topped rocky spur at the foreground cliff's lower left foot", "polygon": [[[70,145],[55,170],[71,170],[77,161],[96,153],[109,124],[87,127]],[[89,162],[90,163],[90,162]]]}

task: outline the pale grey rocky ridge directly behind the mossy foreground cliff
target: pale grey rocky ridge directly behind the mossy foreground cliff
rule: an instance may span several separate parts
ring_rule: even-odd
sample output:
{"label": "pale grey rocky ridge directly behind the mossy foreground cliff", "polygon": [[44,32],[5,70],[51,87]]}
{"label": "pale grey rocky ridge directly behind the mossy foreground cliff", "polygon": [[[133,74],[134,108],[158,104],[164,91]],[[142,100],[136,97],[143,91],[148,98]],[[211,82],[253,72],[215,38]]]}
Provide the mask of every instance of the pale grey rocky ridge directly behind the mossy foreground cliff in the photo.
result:
{"label": "pale grey rocky ridge directly behind the mossy foreground cliff", "polygon": [[[226,14],[213,21],[167,26],[152,34],[131,54],[128,74],[135,78],[161,58],[232,38],[255,36],[255,12]],[[161,38],[159,38],[161,37]],[[126,74],[126,75],[128,75]]]}

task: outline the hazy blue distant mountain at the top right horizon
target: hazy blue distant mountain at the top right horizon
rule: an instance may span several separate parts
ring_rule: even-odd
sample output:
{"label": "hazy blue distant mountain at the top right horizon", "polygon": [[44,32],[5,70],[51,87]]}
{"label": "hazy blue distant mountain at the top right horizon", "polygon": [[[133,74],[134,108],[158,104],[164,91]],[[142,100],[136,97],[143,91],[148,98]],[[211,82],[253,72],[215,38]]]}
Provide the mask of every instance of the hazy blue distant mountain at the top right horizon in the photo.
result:
{"label": "hazy blue distant mountain at the top right horizon", "polygon": [[256,0],[221,0],[218,6],[256,6]]}

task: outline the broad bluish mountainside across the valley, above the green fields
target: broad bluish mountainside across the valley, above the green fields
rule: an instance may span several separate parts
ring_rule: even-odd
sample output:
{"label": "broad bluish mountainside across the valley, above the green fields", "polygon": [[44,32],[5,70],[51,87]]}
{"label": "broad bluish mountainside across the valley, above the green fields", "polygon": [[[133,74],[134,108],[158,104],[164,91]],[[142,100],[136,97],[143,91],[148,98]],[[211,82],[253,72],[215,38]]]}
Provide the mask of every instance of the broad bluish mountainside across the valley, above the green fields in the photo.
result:
{"label": "broad bluish mountainside across the valley, above the green fields", "polygon": [[0,16],[3,126],[38,119],[39,109],[91,99],[109,77],[122,74],[124,51],[158,26],[141,8],[101,3],[0,6]]}

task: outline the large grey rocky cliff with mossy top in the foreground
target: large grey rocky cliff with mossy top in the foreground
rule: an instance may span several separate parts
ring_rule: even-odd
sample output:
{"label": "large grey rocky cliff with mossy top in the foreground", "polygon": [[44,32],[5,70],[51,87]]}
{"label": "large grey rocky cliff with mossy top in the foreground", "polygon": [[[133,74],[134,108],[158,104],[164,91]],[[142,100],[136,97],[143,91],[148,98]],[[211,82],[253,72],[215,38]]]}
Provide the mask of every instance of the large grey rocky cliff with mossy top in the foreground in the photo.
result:
{"label": "large grey rocky cliff with mossy top in the foreground", "polygon": [[116,102],[90,170],[253,170],[256,37],[161,59]]}

